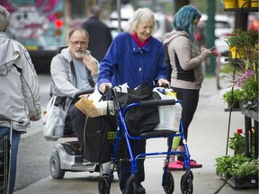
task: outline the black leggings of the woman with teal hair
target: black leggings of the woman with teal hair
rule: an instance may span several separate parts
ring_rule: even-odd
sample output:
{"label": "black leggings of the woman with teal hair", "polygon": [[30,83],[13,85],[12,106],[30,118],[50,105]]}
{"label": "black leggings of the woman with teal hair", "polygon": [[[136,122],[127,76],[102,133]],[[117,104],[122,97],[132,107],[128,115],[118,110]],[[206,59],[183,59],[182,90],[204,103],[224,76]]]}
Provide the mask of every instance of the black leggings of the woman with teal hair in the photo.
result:
{"label": "black leggings of the woman with teal hair", "polygon": [[[182,121],[183,121],[183,134],[187,140],[188,128],[192,122],[193,115],[197,109],[200,90],[189,90],[183,88],[174,88],[174,93],[178,100],[183,101]],[[179,145],[183,145],[183,141],[180,141]]]}

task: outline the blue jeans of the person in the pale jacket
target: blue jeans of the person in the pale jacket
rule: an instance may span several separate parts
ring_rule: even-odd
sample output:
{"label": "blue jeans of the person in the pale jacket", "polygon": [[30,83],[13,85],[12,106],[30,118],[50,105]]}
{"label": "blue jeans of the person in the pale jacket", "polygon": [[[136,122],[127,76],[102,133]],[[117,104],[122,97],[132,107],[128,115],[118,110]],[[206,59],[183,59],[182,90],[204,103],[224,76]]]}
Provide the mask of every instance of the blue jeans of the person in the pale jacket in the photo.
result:
{"label": "blue jeans of the person in the pale jacket", "polygon": [[[0,137],[1,138],[7,137],[10,140],[10,128],[0,127]],[[13,130],[9,194],[13,194],[13,190],[14,190],[17,153],[18,153],[18,145],[19,145],[20,139],[21,139],[21,131]]]}

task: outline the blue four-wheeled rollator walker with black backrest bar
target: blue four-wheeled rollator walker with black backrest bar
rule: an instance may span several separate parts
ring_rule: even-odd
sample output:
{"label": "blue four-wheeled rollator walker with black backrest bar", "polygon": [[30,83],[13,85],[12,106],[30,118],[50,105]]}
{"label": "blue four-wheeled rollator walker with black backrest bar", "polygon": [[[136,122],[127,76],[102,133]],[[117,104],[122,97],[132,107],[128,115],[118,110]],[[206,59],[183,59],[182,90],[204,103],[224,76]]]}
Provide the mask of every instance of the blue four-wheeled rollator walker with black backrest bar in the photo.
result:
{"label": "blue four-wheeled rollator walker with black backrest bar", "polygon": [[[184,158],[184,165],[183,165],[183,171],[185,173],[182,176],[181,179],[181,191],[184,194],[192,194],[193,191],[193,174],[191,171],[190,166],[190,154],[188,150],[188,146],[185,140],[185,137],[183,135],[183,124],[182,120],[180,121],[180,131],[176,133],[176,131],[168,130],[168,129],[159,129],[159,130],[152,130],[150,132],[141,133],[138,136],[130,136],[129,135],[129,128],[127,126],[127,122],[125,120],[125,114],[126,112],[132,108],[132,107],[158,107],[158,106],[165,106],[165,105],[175,105],[176,103],[183,104],[183,101],[178,101],[174,99],[169,100],[151,100],[151,101],[139,101],[130,103],[126,108],[122,110],[122,108],[119,105],[117,94],[114,89],[112,89],[113,95],[114,95],[114,106],[115,109],[118,110],[118,131],[117,131],[117,138],[114,143],[114,150],[113,150],[113,156],[112,156],[112,165],[111,165],[111,172],[110,174],[103,175],[100,177],[99,180],[99,193],[101,194],[109,194],[112,180],[113,180],[113,172],[116,170],[116,154],[119,146],[119,142],[121,140],[126,140],[126,145],[129,151],[129,161],[130,161],[130,169],[131,169],[131,175],[129,179],[126,182],[126,193],[128,194],[137,194],[138,193],[138,178],[137,178],[137,161],[139,159],[143,159],[146,156],[159,156],[159,155],[165,155],[165,167],[164,167],[164,173],[162,177],[162,186],[165,190],[166,194],[172,194],[174,192],[174,177],[171,172],[168,171],[168,163],[169,163],[169,157],[170,155],[183,155]],[[174,137],[182,137],[183,138],[183,145],[185,148],[185,152],[181,151],[171,151],[171,147],[173,144],[173,138]],[[131,146],[129,139],[151,139],[151,138],[168,138],[168,149],[166,152],[154,152],[154,153],[143,153],[138,154],[136,157],[133,157]],[[118,167],[117,167],[118,168]],[[120,174],[119,168],[118,168],[118,175]]]}

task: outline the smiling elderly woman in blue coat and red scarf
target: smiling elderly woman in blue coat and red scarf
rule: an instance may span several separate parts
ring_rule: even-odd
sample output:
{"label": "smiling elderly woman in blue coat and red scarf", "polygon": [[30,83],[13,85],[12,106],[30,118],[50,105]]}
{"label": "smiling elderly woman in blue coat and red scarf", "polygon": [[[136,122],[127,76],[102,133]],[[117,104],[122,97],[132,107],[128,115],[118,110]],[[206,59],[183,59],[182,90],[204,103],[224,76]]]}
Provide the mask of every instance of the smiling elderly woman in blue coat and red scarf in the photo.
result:
{"label": "smiling elderly woman in blue coat and red scarf", "polygon": [[[106,86],[114,87],[128,83],[134,89],[147,82],[150,86],[168,84],[164,62],[163,45],[152,37],[156,20],[154,13],[147,8],[139,8],[129,19],[125,31],[112,41],[106,56],[100,63],[98,87],[104,92]],[[145,140],[131,140],[134,156],[146,152]],[[120,187],[125,193],[125,183],[130,175],[130,163],[121,163]],[[138,161],[138,193],[146,193],[140,184],[144,181],[144,160]]]}

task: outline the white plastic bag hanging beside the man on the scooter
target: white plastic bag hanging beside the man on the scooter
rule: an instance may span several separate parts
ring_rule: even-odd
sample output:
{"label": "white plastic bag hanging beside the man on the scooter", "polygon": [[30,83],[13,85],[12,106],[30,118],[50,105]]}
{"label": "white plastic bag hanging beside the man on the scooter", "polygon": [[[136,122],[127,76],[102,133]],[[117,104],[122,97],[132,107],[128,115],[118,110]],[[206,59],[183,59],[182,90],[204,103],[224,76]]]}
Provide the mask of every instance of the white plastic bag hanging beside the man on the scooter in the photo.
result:
{"label": "white plastic bag hanging beside the man on the scooter", "polygon": [[47,109],[42,113],[43,136],[47,140],[58,139],[58,137],[55,136],[55,128],[58,128],[58,124],[60,127],[60,122],[62,123],[62,119],[60,119],[60,116],[59,116],[59,108],[58,106],[55,105],[56,100],[57,100],[57,96],[52,96],[47,105]]}

